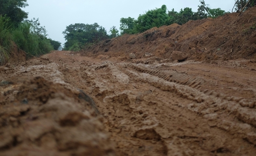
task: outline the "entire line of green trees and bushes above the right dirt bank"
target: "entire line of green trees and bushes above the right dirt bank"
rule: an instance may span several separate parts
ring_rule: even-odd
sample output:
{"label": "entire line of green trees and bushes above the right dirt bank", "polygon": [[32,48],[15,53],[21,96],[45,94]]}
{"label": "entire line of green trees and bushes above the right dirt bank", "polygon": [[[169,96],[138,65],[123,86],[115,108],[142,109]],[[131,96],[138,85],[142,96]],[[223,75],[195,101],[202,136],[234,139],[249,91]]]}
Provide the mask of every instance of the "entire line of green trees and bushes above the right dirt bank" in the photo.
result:
{"label": "entire line of green trees and bushes above the right dirt bank", "polygon": [[[249,1],[249,3],[248,3]],[[179,12],[172,9],[167,11],[166,5],[162,5],[161,8],[155,8],[146,11],[144,14],[135,18],[121,18],[120,19],[120,33],[116,26],[113,26],[109,30],[109,34],[106,29],[99,26],[98,23],[83,24],[75,23],[66,27],[63,34],[65,35],[64,50],[79,51],[84,47],[92,44],[97,44],[99,41],[118,37],[124,34],[138,34],[142,33],[153,27],[161,27],[163,25],[170,25],[173,23],[185,24],[189,20],[198,20],[206,18],[217,18],[230,12],[225,12],[221,8],[210,8],[204,0],[199,0],[200,5],[196,12],[192,11],[192,8],[186,7],[180,9]],[[248,3],[248,5],[246,5]],[[256,4],[256,0],[237,0],[234,5],[234,11],[245,11],[249,7],[253,7]],[[246,7],[245,7],[246,6]],[[244,10],[242,10],[242,8]],[[233,12],[233,10],[232,10]]]}

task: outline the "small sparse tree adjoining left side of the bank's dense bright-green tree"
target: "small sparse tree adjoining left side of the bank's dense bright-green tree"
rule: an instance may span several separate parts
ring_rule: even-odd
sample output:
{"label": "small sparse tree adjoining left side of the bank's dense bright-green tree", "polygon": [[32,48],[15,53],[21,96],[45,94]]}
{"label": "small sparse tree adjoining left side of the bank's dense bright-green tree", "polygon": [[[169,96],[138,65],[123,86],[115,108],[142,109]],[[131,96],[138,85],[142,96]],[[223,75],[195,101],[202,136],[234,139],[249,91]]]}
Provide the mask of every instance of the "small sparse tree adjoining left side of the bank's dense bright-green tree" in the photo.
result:
{"label": "small sparse tree adjoining left side of the bank's dense bright-green tree", "polygon": [[123,34],[136,34],[136,30],[134,28],[136,20],[134,18],[121,18],[120,19],[120,30],[121,35]]}

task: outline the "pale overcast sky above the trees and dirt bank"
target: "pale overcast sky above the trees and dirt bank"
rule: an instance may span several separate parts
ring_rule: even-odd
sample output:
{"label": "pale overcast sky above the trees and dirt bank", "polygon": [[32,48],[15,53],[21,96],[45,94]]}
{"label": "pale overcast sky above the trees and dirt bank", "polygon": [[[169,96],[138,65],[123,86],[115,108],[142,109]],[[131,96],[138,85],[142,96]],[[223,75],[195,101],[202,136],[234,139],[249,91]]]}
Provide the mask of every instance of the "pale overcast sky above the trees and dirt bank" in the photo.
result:
{"label": "pale overcast sky above the trees and dirt bank", "polygon": [[[221,8],[230,11],[235,0],[204,0],[210,8]],[[45,26],[49,38],[65,43],[62,32],[66,26],[75,23],[93,24],[109,31],[110,27],[120,27],[120,18],[132,17],[137,19],[149,9],[160,8],[163,4],[168,10],[174,8],[179,12],[185,7],[195,12],[200,4],[199,0],[27,0],[29,19],[39,18]]]}

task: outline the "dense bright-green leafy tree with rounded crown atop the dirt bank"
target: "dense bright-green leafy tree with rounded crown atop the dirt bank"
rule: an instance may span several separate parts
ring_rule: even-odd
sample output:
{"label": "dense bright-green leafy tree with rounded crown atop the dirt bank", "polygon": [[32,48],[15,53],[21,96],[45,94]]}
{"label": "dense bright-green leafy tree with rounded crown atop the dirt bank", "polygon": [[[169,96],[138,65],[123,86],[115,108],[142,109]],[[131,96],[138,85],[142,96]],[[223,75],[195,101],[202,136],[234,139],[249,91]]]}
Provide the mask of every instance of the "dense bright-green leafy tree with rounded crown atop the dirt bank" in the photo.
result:
{"label": "dense bright-green leafy tree with rounded crown atop the dirt bank", "polygon": [[153,27],[169,25],[170,16],[167,15],[166,11],[166,5],[162,5],[161,8],[149,10],[145,14],[139,15],[135,22],[136,31],[142,33]]}

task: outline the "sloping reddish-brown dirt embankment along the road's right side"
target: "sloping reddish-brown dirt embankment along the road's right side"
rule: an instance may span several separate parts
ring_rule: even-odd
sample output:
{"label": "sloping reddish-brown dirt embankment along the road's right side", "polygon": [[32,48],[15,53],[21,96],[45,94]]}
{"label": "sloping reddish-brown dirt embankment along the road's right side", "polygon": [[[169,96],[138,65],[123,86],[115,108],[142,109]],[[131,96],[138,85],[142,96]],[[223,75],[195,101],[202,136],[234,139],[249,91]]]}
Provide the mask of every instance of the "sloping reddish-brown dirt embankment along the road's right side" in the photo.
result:
{"label": "sloping reddish-brown dirt embankment along the road's right side", "polygon": [[216,19],[189,21],[180,26],[154,27],[141,34],[123,35],[81,51],[82,55],[97,57],[137,58],[150,53],[163,59],[172,58],[174,50],[185,52],[187,60],[233,60],[256,58],[256,7],[238,16],[225,14]]}

